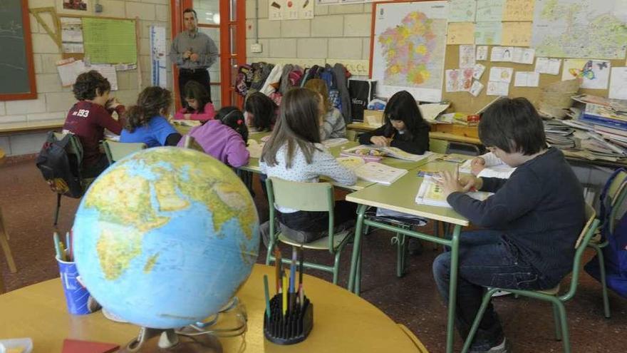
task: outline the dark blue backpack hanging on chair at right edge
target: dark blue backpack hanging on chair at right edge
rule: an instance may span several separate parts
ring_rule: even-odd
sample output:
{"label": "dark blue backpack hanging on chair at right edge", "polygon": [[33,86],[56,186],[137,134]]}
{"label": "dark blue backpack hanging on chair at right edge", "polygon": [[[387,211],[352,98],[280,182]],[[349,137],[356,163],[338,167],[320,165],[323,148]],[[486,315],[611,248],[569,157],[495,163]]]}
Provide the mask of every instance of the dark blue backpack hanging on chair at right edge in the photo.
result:
{"label": "dark blue backpack hanging on chair at right edge", "polygon": [[[608,241],[608,245],[603,247],[607,286],[618,295],[627,298],[627,212],[623,213],[620,220],[616,220],[616,226],[612,232],[609,222],[612,210],[613,208],[618,208],[620,212],[624,205],[620,202],[611,205],[610,199],[606,198],[612,180],[621,171],[624,172],[625,168],[619,168],[614,171],[603,188],[600,197],[601,213],[599,214],[599,219],[603,222],[601,226],[601,240]],[[627,182],[623,183],[622,188],[627,188],[626,184]],[[584,268],[596,280],[601,280],[598,258],[596,256]]]}

